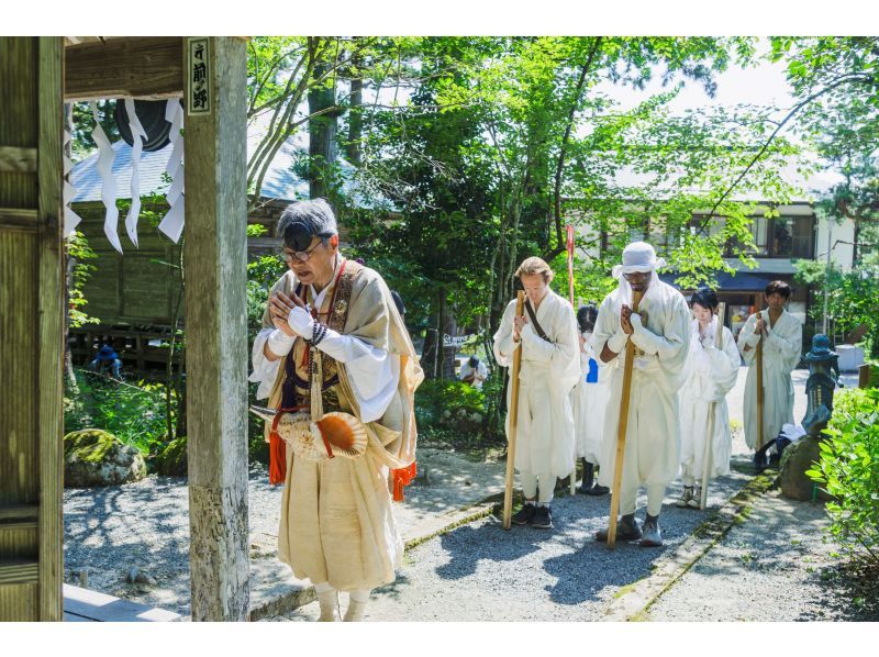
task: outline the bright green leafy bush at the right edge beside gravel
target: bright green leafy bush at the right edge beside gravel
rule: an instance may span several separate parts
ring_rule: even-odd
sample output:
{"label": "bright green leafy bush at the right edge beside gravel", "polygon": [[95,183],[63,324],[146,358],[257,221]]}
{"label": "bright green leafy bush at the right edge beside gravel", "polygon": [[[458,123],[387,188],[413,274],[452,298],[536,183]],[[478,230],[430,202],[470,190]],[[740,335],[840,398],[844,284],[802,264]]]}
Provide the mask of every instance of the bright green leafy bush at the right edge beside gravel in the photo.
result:
{"label": "bright green leafy bush at the right edge beside gravel", "polygon": [[834,399],[821,458],[806,470],[834,500],[831,532],[856,558],[879,565],[879,389],[852,389]]}

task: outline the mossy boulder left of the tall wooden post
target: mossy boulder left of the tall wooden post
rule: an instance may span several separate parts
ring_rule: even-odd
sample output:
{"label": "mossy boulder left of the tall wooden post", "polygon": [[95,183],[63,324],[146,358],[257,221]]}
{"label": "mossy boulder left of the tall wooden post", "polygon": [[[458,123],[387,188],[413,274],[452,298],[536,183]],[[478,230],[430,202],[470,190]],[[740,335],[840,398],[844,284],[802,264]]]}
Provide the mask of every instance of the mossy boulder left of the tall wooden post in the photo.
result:
{"label": "mossy boulder left of the tall wooden post", "polygon": [[64,485],[67,488],[114,486],[146,477],[143,455],[100,428],[64,436]]}

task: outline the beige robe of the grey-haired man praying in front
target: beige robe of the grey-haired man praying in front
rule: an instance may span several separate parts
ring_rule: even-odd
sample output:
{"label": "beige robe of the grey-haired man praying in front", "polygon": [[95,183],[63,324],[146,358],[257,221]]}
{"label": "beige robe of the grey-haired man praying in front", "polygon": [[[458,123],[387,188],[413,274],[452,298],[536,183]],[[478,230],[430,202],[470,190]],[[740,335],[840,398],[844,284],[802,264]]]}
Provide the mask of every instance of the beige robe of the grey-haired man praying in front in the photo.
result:
{"label": "beige robe of the grey-haired man praying in front", "polygon": [[[372,357],[377,357],[376,363],[383,357],[391,359],[396,391],[380,417],[365,417],[361,405],[370,405],[370,414],[377,412],[375,404],[367,403],[368,387],[380,386],[381,381],[370,381],[368,370],[364,371],[361,365],[358,380],[354,380],[352,364],[337,363],[340,382],[333,389],[338,396],[340,410],[366,420],[369,437],[366,454],[356,459],[311,461],[294,458],[288,448],[278,532],[278,558],[292,568],[297,578],[329,582],[342,591],[371,589],[393,581],[394,568],[401,563],[403,542],[391,509],[389,472],[414,460],[414,391],[424,378],[385,281],[376,271],[354,261],[348,260],[346,267],[356,275],[341,333],[365,343]],[[289,294],[296,287],[296,276],[287,271],[271,293],[283,290]],[[332,291],[324,299],[323,310],[327,310],[331,297]],[[268,310],[263,325],[270,333]],[[265,339],[257,339],[254,345],[255,368],[264,365],[258,363],[257,347],[262,354]],[[299,358],[303,348],[302,341],[297,339],[294,357]],[[326,367],[329,356],[323,354],[322,358]],[[285,378],[283,367],[278,367],[269,396],[271,408],[280,403]]]}

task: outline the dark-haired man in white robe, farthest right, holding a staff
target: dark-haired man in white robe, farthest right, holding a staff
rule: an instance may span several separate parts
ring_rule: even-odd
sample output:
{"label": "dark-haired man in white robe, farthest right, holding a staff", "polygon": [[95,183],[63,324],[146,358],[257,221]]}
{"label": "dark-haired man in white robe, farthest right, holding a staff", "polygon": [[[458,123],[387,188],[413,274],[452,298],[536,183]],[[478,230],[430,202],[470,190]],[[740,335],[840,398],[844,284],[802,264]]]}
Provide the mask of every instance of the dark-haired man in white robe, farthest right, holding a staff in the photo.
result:
{"label": "dark-haired man in white robe, farthest right, holding a staff", "polygon": [[[745,442],[755,450],[757,470],[766,467],[766,448],[778,436],[782,425],[793,424],[793,381],[790,372],[800,361],[803,326],[785,310],[790,286],[774,280],[764,294],[768,309],[748,318],[738,334],[738,350],[748,365],[745,382]],[[757,421],[757,343],[763,346],[763,445],[758,443]]]}

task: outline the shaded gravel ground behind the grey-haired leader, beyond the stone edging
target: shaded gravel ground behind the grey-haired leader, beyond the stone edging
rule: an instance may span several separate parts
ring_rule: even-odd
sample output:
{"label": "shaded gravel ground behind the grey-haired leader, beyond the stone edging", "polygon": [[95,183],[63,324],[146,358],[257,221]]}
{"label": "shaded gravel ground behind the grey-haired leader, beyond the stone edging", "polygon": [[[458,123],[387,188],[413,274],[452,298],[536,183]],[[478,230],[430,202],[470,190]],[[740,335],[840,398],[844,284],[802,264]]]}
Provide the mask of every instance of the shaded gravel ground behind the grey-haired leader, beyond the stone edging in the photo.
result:
{"label": "shaded gravel ground behind the grey-haired leader, beyond the stone edging", "polygon": [[[461,509],[503,490],[503,463],[429,448],[420,450],[419,463],[420,478],[394,506],[407,541],[431,535],[457,520]],[[302,586],[276,558],[280,498],[281,488],[269,486],[266,467],[252,466],[252,603]],[[67,489],[64,524],[65,581],[80,586],[85,571],[85,588],[190,614],[186,478],[149,476],[124,486]]]}

